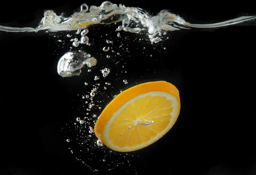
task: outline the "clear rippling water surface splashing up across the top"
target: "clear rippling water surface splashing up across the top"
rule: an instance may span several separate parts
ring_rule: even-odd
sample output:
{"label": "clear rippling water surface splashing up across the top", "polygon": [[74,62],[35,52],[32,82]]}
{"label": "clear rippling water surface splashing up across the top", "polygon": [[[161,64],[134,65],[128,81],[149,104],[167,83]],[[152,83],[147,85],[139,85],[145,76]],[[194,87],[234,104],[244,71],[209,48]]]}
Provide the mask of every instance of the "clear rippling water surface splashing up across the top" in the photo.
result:
{"label": "clear rippling water surface splashing up across the top", "polygon": [[87,6],[82,4],[80,11],[75,12],[70,17],[58,16],[54,11],[44,12],[40,24],[36,28],[14,28],[0,26],[0,30],[6,32],[38,32],[48,31],[70,31],[86,29],[88,26],[96,24],[122,23],[125,32],[148,34],[151,42],[158,43],[162,40],[166,31],[192,28],[219,28],[236,25],[249,20],[255,20],[256,16],[241,16],[232,20],[212,24],[192,24],[186,22],[182,17],[162,10],[157,15],[151,15],[147,11],[135,7],[125,7],[124,5],[113,4],[105,1],[101,6]]}

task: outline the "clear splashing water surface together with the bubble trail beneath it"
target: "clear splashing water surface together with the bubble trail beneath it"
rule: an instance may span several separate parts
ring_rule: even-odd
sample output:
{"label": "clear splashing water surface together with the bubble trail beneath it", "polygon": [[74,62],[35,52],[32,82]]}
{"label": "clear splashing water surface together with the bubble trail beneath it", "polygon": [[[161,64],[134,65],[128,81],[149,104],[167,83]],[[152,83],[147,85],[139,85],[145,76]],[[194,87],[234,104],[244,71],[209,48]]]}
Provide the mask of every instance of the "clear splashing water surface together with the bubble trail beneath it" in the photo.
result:
{"label": "clear splashing water surface together with the bubble trail beneath it", "polygon": [[[58,37],[56,41],[60,46],[64,43],[68,47],[66,51],[56,55],[58,65],[55,69],[60,77],[70,78],[70,80],[81,78],[79,80],[84,89],[78,94],[79,107],[74,106],[78,108],[76,109],[79,111],[78,115],[71,114],[68,129],[64,129],[68,133],[64,141],[66,140],[67,145],[72,148],[70,152],[77,162],[92,171],[109,171],[118,166],[131,166],[134,158],[138,158],[136,153],[126,155],[111,151],[93,134],[97,117],[109,100],[128,87],[139,83],[136,77],[132,76],[132,72],[129,72],[131,70],[126,69],[135,66],[134,72],[140,71],[137,69],[139,66],[136,66],[140,63],[132,59],[131,53],[140,52],[154,60],[157,59],[159,50],[161,54],[166,53],[164,43],[172,39],[172,33],[194,29],[215,30],[231,25],[254,25],[255,18],[256,16],[241,16],[213,24],[192,24],[168,10],[151,15],[140,8],[104,2],[99,7],[82,4],[80,11],[70,17],[48,10],[44,13],[39,26],[35,28],[0,26],[0,30],[38,33],[47,31],[49,36]],[[106,31],[105,28],[108,26],[113,26],[113,31]],[[100,27],[103,28],[101,32],[95,32]],[[99,35],[99,38],[95,35]],[[136,48],[139,48],[138,51],[135,50]],[[149,51],[147,48],[152,50]],[[153,52],[153,49],[157,53]],[[145,69],[141,68],[142,75],[145,70],[152,71],[152,68],[147,66],[148,64],[145,65]],[[139,123],[148,126],[153,122],[140,121]],[[128,127],[130,128],[131,126]],[[90,156],[88,156],[89,153]],[[99,153],[100,156],[97,157]],[[136,156],[133,157],[133,155]],[[102,161],[105,163],[102,167],[91,163]]]}

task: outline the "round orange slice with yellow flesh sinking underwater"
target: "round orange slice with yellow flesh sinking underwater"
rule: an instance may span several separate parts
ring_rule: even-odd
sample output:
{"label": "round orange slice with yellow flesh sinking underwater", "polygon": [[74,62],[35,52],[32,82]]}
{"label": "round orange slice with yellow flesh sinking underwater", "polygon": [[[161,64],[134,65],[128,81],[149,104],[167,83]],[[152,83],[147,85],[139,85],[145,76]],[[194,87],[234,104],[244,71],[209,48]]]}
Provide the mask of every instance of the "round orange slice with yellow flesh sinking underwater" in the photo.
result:
{"label": "round orange slice with yellow flesh sinking underwater", "polygon": [[179,113],[179,91],[174,85],[142,83],[117,95],[102,111],[94,131],[110,149],[131,152],[163,137]]}

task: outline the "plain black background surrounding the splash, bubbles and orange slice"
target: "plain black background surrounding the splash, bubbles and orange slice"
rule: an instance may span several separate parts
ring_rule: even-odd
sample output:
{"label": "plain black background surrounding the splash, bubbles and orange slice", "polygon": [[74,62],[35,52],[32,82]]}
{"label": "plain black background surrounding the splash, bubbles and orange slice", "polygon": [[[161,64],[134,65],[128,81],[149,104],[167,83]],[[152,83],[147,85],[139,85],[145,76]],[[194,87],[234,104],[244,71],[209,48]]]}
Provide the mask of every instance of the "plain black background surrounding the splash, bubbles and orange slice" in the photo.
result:
{"label": "plain black background surrounding the splash, bubbles and orange slice", "polygon": [[[153,14],[171,9],[193,23],[220,22],[241,13],[256,13],[246,2],[111,2]],[[9,1],[0,7],[0,23],[36,27],[44,9],[67,11],[68,15],[82,3],[100,6],[102,2]],[[137,174],[256,174],[255,112],[249,112],[255,103],[255,31],[255,26],[230,26],[213,32],[177,34],[175,40],[166,41],[167,53],[152,64],[179,72],[176,86],[183,109],[171,139],[164,137],[159,144],[138,153],[141,159],[133,164]],[[93,174],[78,166],[61,132],[63,125],[73,120],[65,115],[63,104],[69,109],[76,103],[73,99],[81,89],[80,80],[63,79],[56,73],[56,57],[62,54],[55,52],[58,47],[53,38],[45,36],[0,32],[0,174]],[[143,61],[143,53],[136,56]],[[128,66],[128,72],[139,77],[140,65]],[[154,152],[149,155],[147,150]],[[118,170],[127,172],[126,167]]]}

